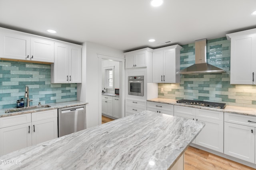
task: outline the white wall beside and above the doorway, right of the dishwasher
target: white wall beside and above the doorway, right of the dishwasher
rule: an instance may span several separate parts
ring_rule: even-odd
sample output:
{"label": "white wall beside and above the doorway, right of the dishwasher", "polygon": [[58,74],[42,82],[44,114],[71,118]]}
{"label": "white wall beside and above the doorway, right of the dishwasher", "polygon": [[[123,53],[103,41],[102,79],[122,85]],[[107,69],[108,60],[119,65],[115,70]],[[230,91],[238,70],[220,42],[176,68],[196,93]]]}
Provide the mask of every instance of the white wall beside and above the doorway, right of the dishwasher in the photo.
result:
{"label": "white wall beside and above the doorway, right of the dishwasher", "polygon": [[99,124],[98,106],[98,53],[124,58],[123,51],[86,42],[82,47],[82,84],[77,85],[77,98],[86,105],[87,128]]}

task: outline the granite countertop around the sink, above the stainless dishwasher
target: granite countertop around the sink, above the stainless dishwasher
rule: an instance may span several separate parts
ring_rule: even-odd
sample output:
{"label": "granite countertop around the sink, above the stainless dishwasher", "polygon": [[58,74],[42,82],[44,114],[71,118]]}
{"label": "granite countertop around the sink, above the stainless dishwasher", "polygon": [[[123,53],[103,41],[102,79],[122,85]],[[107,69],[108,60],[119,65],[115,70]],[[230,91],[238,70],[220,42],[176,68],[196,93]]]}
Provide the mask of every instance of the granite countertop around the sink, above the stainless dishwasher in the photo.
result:
{"label": "granite countertop around the sink, above the stainless dishwasher", "polygon": [[[63,107],[79,106],[79,105],[84,105],[84,104],[88,104],[88,103],[80,102],[80,101],[70,101],[70,102],[43,104],[43,105],[49,105],[51,107],[35,108],[35,109],[31,109],[31,110],[18,111],[18,112],[13,112],[13,113],[5,113],[5,111],[8,109],[16,109],[16,108],[0,109],[0,117],[20,115],[20,114],[25,114],[25,113],[33,113],[33,112],[37,112],[37,111],[45,111],[45,110],[51,110],[51,109],[59,109],[59,108],[63,108]],[[26,107],[22,107],[22,108],[26,108]]]}

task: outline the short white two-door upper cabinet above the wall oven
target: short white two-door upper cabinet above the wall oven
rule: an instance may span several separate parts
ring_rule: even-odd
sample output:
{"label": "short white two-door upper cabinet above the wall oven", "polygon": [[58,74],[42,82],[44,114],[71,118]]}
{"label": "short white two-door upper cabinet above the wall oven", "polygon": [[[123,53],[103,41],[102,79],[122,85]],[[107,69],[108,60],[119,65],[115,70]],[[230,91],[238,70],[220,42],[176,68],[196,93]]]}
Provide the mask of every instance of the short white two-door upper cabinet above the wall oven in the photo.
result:
{"label": "short white two-door upper cabinet above the wall oven", "polygon": [[[144,48],[124,53],[125,68],[140,68],[148,66],[152,59],[152,49]],[[150,62],[151,63],[151,62]]]}

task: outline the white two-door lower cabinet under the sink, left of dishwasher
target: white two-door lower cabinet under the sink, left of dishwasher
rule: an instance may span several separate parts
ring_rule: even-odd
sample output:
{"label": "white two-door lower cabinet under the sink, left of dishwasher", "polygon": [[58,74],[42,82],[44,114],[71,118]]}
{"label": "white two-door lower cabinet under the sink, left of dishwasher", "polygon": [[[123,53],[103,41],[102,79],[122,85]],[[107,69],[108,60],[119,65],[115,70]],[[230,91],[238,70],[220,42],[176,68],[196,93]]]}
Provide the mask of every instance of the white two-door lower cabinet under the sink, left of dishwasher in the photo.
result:
{"label": "white two-door lower cabinet under the sink, left of dishwasher", "polygon": [[0,155],[57,138],[57,117],[57,109],[0,117]]}

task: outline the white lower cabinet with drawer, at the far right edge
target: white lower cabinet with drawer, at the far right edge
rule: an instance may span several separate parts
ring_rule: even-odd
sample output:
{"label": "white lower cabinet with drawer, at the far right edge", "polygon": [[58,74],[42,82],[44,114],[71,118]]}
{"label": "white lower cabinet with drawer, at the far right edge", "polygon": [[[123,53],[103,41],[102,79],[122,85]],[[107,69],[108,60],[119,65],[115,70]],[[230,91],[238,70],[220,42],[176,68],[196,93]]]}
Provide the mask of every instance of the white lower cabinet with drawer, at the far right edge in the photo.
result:
{"label": "white lower cabinet with drawer, at the far right edge", "polygon": [[225,113],[224,154],[255,163],[256,117]]}

